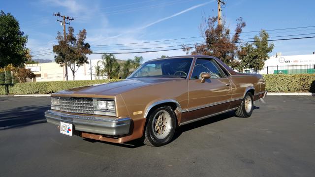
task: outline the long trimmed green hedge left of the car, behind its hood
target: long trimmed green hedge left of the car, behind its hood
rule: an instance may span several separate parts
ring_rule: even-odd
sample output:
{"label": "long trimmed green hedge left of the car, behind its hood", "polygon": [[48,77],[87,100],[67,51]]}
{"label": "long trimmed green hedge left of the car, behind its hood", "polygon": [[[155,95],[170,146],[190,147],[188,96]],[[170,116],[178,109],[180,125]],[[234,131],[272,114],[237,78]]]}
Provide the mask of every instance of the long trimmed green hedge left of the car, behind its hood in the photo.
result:
{"label": "long trimmed green hedge left of the car, behind its hood", "polygon": [[[111,79],[110,82],[120,80],[121,79]],[[50,94],[64,89],[108,82],[109,80],[17,83],[10,85],[0,85],[0,94]]]}

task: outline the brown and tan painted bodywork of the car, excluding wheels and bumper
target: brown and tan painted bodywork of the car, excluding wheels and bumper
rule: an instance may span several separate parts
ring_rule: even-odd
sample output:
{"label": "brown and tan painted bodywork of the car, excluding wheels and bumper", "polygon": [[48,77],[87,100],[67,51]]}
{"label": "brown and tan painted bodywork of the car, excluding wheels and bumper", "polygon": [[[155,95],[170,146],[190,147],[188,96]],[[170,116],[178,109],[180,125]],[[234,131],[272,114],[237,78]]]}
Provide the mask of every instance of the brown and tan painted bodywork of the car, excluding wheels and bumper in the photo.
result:
{"label": "brown and tan painted bodywork of the car, excluding wheels and bumper", "polygon": [[[100,141],[124,143],[143,136],[147,119],[145,114],[150,114],[149,109],[152,111],[160,105],[169,105],[174,109],[178,125],[181,125],[194,119],[237,108],[247,91],[253,93],[254,100],[261,98],[265,91],[265,83],[261,75],[235,72],[220,59],[209,56],[180,56],[170,59],[174,58],[192,59],[186,79],[131,78],[93,87],[69,89],[54,93],[52,97],[114,99],[116,118],[131,118],[129,134],[110,137],[82,132],[81,136]],[[210,74],[206,73],[202,75],[204,76],[203,79],[190,79],[193,66],[196,59],[199,58],[214,60],[228,75],[223,75],[221,78],[211,78]],[[210,78],[205,79],[208,77]],[[204,83],[202,83],[202,80]],[[175,102],[163,102],[165,100],[173,100]],[[158,102],[161,102],[161,104],[155,105]]]}

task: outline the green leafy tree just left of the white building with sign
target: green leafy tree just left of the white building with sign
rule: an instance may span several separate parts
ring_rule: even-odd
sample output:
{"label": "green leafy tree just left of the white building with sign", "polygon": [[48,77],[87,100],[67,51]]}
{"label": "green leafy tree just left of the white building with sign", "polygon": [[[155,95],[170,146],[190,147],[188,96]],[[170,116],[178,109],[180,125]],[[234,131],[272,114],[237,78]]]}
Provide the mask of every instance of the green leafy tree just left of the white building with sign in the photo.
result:
{"label": "green leafy tree just left of the white building with sign", "polygon": [[268,43],[269,35],[265,30],[254,37],[253,43],[246,43],[238,52],[238,59],[241,60],[242,69],[251,68],[256,72],[262,70],[268,54],[274,49],[274,44]]}

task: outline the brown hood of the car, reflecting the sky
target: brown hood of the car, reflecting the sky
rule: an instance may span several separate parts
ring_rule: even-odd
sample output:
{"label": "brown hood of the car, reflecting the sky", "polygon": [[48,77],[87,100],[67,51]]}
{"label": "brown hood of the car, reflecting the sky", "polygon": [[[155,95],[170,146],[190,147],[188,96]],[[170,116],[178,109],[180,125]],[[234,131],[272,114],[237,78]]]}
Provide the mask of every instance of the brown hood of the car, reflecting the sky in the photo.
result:
{"label": "brown hood of the car, reflecting the sky", "polygon": [[83,86],[68,90],[63,90],[54,95],[67,95],[67,96],[91,96],[91,95],[117,95],[123,92],[138,89],[141,87],[160,84],[165,82],[171,82],[176,80],[183,80],[183,78],[134,78],[126,79],[123,81],[98,84],[92,86]]}

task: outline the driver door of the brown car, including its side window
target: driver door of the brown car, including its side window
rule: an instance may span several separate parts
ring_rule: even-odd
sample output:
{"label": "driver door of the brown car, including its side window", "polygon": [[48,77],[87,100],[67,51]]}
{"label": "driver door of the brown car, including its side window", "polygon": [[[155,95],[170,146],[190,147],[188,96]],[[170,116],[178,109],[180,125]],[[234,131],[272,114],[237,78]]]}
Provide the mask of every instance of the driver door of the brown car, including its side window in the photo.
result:
{"label": "driver door of the brown car, including its side window", "polygon": [[[201,83],[201,74],[209,73],[211,78]],[[230,82],[214,59],[198,58],[188,81],[189,121],[202,118],[229,108],[232,92]]]}

